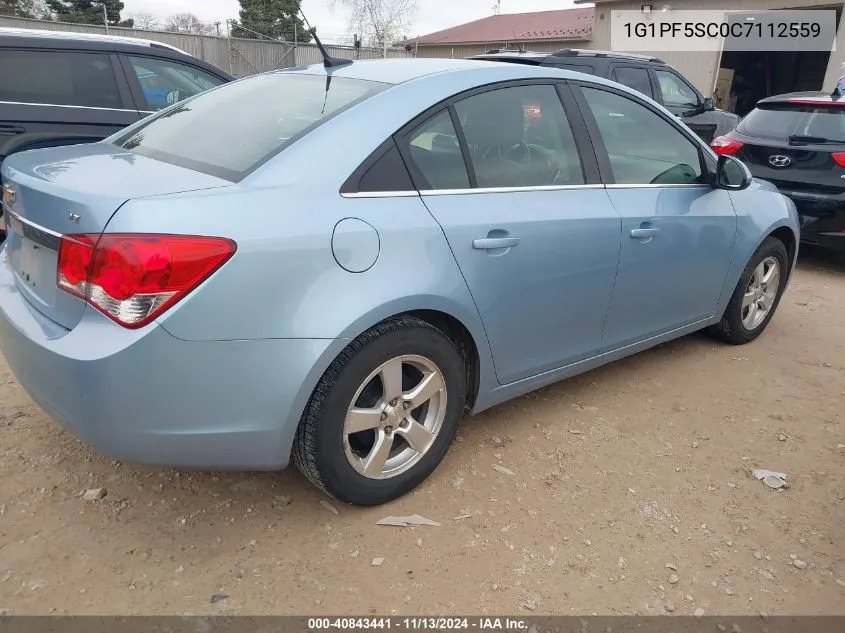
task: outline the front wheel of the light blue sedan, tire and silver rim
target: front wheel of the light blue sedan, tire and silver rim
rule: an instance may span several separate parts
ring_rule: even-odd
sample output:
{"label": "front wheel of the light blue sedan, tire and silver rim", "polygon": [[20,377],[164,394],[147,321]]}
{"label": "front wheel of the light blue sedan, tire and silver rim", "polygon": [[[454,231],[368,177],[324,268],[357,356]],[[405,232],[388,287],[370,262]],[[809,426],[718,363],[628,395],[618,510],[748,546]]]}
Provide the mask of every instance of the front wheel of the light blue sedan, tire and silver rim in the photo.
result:
{"label": "front wheel of the light blue sedan, tire and silver rim", "polygon": [[[777,238],[767,237],[748,261],[722,320],[709,329],[710,334],[732,345],[744,345],[760,336],[780,304],[789,267],[786,246]],[[772,270],[777,274],[776,283],[771,277],[765,281]]]}

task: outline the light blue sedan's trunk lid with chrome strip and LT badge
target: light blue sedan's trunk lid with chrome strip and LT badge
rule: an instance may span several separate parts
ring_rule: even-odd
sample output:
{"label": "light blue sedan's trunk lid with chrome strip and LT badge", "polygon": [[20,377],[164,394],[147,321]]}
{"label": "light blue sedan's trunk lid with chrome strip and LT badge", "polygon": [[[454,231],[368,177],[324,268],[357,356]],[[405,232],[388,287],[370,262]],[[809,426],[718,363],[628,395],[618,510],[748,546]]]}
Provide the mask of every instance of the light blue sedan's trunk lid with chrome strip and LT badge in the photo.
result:
{"label": "light blue sedan's trunk lid with chrome strip and LT badge", "polygon": [[5,265],[22,296],[67,329],[86,303],[56,285],[62,236],[101,234],[132,198],[231,185],[105,143],[15,154],[3,164],[2,181]]}

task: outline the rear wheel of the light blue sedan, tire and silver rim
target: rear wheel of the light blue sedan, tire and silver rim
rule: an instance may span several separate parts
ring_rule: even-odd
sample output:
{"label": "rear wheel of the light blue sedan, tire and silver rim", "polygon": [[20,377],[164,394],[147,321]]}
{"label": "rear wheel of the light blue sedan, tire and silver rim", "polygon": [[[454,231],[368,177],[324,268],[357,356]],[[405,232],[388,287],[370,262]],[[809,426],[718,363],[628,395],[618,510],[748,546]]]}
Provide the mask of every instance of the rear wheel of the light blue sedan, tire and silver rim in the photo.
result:
{"label": "rear wheel of the light blue sedan, tire and silver rim", "polygon": [[[438,385],[428,400],[414,400],[415,392],[421,399]],[[344,503],[396,499],[446,455],[466,389],[463,358],[446,334],[411,316],[382,322],[350,343],[320,379],[297,428],[293,461],[317,488]],[[374,420],[378,426],[371,429]],[[353,423],[366,428],[355,431]]]}

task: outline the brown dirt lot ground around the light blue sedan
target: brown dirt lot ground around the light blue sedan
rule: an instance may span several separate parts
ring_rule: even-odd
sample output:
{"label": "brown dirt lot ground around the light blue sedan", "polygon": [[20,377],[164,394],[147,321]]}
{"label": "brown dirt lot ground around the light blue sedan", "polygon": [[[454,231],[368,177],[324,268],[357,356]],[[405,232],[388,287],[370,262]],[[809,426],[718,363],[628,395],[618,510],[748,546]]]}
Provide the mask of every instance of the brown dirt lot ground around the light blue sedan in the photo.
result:
{"label": "brown dirt lot ground around the light blue sedan", "polygon": [[[0,611],[845,614],[843,405],[845,265],[817,253],[755,344],[691,336],[497,407],[416,492],[336,515],[294,470],[95,455],[2,363]],[[374,525],[415,513],[442,525]]]}

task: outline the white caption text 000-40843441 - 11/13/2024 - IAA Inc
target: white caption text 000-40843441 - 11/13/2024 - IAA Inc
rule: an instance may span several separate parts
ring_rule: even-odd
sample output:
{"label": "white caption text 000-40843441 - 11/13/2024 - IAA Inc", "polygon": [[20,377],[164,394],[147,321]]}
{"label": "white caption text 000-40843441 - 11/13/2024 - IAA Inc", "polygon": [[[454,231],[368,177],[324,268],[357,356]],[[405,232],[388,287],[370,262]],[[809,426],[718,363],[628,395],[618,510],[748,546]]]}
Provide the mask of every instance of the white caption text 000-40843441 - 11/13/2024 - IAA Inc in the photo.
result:
{"label": "white caption text 000-40843441 - 11/13/2024 - IAA Inc", "polygon": [[309,631],[397,630],[397,631],[521,631],[529,628],[519,618],[448,618],[448,617],[354,617],[309,618]]}

